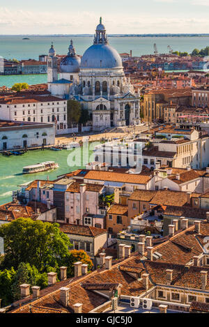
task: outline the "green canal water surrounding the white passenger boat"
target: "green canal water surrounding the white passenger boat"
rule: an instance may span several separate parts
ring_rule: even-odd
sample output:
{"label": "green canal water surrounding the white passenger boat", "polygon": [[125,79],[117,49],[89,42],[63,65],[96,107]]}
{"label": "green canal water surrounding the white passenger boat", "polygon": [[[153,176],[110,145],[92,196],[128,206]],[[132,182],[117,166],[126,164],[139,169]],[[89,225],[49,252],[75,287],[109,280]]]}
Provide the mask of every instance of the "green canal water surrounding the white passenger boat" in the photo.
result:
{"label": "green canal water surrounding the white passenger boat", "polygon": [[[0,154],[0,205],[12,200],[13,191],[17,190],[17,186],[20,184],[38,179],[47,180],[47,176],[49,176],[49,180],[54,180],[64,173],[69,173],[77,168],[84,168],[85,162],[93,161],[93,151],[86,151],[83,155],[81,150],[82,148],[61,151],[33,150],[21,156],[10,157]],[[59,164],[59,168],[36,174],[22,174],[24,166],[43,161],[55,161]]]}

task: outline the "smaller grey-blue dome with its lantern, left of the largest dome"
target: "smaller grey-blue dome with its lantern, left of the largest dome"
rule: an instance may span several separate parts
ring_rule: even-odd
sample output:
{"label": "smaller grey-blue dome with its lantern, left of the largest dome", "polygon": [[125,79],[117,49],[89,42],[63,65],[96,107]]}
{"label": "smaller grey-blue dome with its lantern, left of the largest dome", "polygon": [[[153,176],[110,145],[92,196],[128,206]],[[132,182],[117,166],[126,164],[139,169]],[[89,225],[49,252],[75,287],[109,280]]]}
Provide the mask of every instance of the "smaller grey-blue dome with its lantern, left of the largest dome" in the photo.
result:
{"label": "smaller grey-blue dome with its lantern, left of the largest dome", "polygon": [[60,70],[61,72],[79,72],[80,63],[81,59],[77,56],[71,40],[68,55],[61,60]]}

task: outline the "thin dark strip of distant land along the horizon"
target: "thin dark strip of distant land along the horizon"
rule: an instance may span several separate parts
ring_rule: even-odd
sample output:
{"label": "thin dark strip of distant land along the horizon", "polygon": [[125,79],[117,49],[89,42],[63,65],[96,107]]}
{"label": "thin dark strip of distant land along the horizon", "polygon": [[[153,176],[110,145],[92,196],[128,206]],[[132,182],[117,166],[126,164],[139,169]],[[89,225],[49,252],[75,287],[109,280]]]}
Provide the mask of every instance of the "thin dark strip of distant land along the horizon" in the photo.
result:
{"label": "thin dark strip of distant land along the horizon", "polygon": [[[19,37],[31,37],[31,38],[66,38],[66,37],[82,37],[82,38],[92,38],[93,34],[44,34],[44,35],[24,35],[24,34],[8,34],[8,35],[0,35],[0,37],[8,37],[8,36],[19,36]],[[204,38],[209,37],[208,34],[108,34],[110,38]]]}

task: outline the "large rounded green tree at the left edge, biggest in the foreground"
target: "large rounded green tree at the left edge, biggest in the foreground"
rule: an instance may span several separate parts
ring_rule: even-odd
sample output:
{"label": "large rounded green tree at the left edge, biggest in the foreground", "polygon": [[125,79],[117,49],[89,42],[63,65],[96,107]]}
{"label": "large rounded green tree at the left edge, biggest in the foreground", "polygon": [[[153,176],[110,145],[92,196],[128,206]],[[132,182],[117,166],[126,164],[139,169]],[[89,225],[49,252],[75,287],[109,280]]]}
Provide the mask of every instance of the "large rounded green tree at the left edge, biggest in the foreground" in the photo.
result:
{"label": "large rounded green tree at the left edge, biggest in the foreground", "polygon": [[57,223],[43,223],[31,218],[18,218],[0,227],[5,255],[2,266],[17,269],[21,262],[35,266],[40,273],[56,268],[72,246]]}

